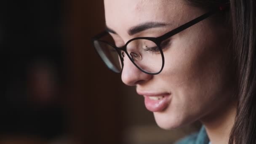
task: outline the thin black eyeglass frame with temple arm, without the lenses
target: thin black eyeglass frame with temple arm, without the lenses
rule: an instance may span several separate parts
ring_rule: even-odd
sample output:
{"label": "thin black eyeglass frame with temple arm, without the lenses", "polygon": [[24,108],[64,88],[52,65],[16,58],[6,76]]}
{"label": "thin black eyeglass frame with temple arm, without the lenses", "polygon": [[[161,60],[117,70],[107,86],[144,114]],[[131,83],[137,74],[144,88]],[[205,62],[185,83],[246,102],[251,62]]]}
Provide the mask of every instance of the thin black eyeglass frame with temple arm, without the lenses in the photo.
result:
{"label": "thin black eyeglass frame with temple arm, without the lenses", "polygon": [[[161,46],[160,46],[161,43],[162,43],[164,40],[168,39],[169,37],[172,37],[173,35],[176,35],[177,33],[179,33],[179,32],[181,32],[181,31],[183,31],[183,30],[185,30],[185,29],[187,29],[187,28],[189,28],[189,27],[191,27],[191,26],[197,24],[198,22],[203,21],[204,19],[210,17],[211,15],[213,15],[214,13],[216,13],[217,11],[221,11],[221,10],[218,9],[218,8],[216,8],[216,9],[214,9],[214,10],[208,12],[208,13],[205,13],[205,14],[203,14],[203,15],[201,15],[201,16],[199,16],[199,17],[197,17],[197,18],[195,18],[195,19],[193,19],[193,20],[191,20],[191,21],[189,21],[189,22],[187,22],[187,23],[185,23],[185,24],[183,24],[183,25],[181,25],[181,26],[179,26],[179,27],[173,29],[173,30],[171,30],[170,32],[165,33],[164,35],[161,35],[160,37],[135,37],[135,38],[129,40],[127,43],[125,43],[124,46],[122,46],[122,47],[120,47],[120,48],[119,48],[119,47],[116,47],[115,45],[112,45],[111,43],[109,43],[109,42],[107,42],[107,41],[100,40],[101,37],[104,37],[105,35],[108,34],[107,30],[104,30],[103,32],[99,33],[98,35],[96,35],[96,36],[94,36],[94,37],[92,38],[92,40],[93,40],[93,45],[94,45],[94,41],[97,40],[97,41],[106,43],[106,44],[112,46],[113,48],[115,48],[115,50],[117,51],[117,53],[118,53],[118,55],[119,55],[119,57],[120,57],[121,64],[122,64],[122,69],[120,70],[120,72],[117,72],[117,73],[121,73],[121,72],[123,71],[123,66],[124,66],[124,64],[123,64],[123,57],[122,57],[121,51],[124,51],[124,52],[126,53],[126,55],[128,56],[128,58],[132,61],[132,63],[133,63],[139,70],[141,70],[142,72],[144,72],[144,73],[146,73],[146,74],[149,74],[149,75],[157,75],[157,74],[159,74],[160,72],[162,72],[163,67],[164,67],[164,64],[165,64],[164,55],[163,55],[163,50],[162,50],[162,48],[161,48]],[[140,40],[140,39],[143,39],[143,40],[151,40],[151,41],[154,42],[154,43],[157,45],[157,47],[159,48],[159,51],[160,51],[161,56],[162,56],[162,61],[163,61],[163,62],[162,62],[162,67],[161,67],[161,69],[160,69],[159,72],[156,72],[156,73],[149,73],[149,72],[144,71],[144,70],[141,69],[139,66],[137,66],[137,64],[135,64],[135,62],[132,60],[130,54],[128,54],[128,52],[127,52],[127,50],[126,50],[127,45],[128,45],[131,41],[133,41],[133,40]],[[94,46],[94,47],[95,47],[95,46]],[[95,48],[95,49],[96,49],[96,48]],[[99,52],[97,52],[97,53],[99,54]],[[101,56],[100,56],[100,57],[101,57]],[[102,58],[101,58],[101,59],[102,59]],[[103,60],[103,59],[102,59],[102,60]],[[104,63],[105,63],[105,62],[104,62]],[[106,64],[106,63],[105,63],[105,64]],[[108,67],[108,68],[109,68],[109,67]],[[109,68],[109,69],[110,69],[110,68]],[[111,70],[112,70],[112,69],[111,69]],[[113,71],[113,70],[112,70],[112,71]]]}

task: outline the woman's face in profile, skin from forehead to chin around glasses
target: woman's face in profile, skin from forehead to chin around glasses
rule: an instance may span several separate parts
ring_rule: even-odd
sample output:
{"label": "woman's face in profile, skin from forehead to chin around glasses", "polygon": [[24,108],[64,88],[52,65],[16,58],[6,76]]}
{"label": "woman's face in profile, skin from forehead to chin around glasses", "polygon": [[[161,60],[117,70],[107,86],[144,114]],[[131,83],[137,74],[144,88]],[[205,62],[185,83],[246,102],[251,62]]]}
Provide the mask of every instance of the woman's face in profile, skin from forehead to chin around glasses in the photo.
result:
{"label": "woman's face in profile, skin from forehead to chin around glasses", "polygon": [[[182,0],[104,0],[106,25],[117,46],[134,37],[158,37],[206,13]],[[163,23],[131,35],[145,23]],[[231,67],[228,30],[214,16],[172,36],[158,75],[137,69],[124,56],[122,80],[136,85],[161,128],[176,128],[218,113],[230,102]],[[157,97],[155,97],[157,96]]]}

